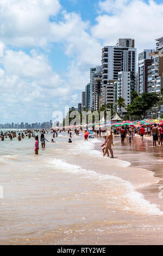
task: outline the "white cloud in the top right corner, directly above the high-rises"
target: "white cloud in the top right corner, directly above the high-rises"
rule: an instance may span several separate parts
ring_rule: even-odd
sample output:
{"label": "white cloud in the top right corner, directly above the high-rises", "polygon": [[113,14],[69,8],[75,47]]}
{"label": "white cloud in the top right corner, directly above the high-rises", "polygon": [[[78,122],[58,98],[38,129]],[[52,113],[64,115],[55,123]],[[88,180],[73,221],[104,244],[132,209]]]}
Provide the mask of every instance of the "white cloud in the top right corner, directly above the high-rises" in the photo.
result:
{"label": "white cloud in the top right corner, directly above the high-rises", "polygon": [[91,31],[105,45],[115,45],[118,38],[134,38],[139,52],[154,48],[154,40],[162,36],[163,3],[105,0],[99,2],[99,8],[101,14]]}

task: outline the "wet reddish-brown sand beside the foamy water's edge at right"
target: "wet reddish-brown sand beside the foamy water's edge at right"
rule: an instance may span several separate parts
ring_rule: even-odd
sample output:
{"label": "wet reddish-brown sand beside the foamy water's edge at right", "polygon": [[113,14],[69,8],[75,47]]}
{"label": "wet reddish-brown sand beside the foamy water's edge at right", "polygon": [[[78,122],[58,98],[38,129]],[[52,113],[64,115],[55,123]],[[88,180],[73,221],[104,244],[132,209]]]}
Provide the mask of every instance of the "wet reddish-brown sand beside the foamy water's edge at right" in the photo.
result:
{"label": "wet reddish-brown sand beside the foamy water's edge at right", "polygon": [[[99,139],[101,142],[96,145],[96,149],[98,150],[103,143],[103,138]],[[115,147],[112,147],[114,156],[118,159],[129,161],[131,163],[130,169],[134,168],[135,170],[136,168],[137,170],[141,170],[140,179],[142,179],[142,183],[144,179],[148,179],[148,175],[146,176],[147,170],[151,171],[151,175],[156,178],[155,181],[151,180],[151,185],[142,185],[140,188],[138,186],[136,191],[142,193],[146,200],[158,205],[159,209],[163,211],[163,198],[159,198],[159,187],[163,185],[163,146],[158,146],[157,143],[157,147],[153,147],[152,136],[144,137],[142,142],[140,136],[136,135],[131,145],[129,144],[128,137],[122,145],[120,136],[114,136],[114,142],[116,144]],[[134,184],[134,180],[130,178],[130,174],[128,175],[128,180]]]}

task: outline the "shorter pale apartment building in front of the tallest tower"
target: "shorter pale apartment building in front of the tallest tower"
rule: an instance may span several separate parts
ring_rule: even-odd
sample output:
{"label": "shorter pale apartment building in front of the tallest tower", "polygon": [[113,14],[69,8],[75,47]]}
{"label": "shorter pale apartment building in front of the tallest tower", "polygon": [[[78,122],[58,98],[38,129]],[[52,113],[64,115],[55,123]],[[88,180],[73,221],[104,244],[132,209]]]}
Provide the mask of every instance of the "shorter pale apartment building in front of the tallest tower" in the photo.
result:
{"label": "shorter pale apartment building in front of the tallest tower", "polygon": [[[118,82],[115,83],[114,89],[114,102],[116,102],[119,97],[125,100],[125,104],[131,104],[131,92],[135,90],[135,72],[121,71],[118,73]],[[115,92],[117,90],[117,92]],[[117,99],[116,99],[117,97]],[[120,113],[120,108],[114,105],[114,109]],[[123,114],[126,114],[126,109],[122,108]]]}

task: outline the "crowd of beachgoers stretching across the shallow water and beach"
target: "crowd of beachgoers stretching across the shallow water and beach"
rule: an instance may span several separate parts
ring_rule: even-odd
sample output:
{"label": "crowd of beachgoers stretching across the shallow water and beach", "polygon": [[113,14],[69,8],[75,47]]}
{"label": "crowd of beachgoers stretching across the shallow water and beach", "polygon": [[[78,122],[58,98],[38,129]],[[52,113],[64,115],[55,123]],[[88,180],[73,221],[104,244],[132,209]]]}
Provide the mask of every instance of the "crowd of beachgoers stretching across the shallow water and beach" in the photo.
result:
{"label": "crowd of beachgoers stretching across the shallow water and beach", "polygon": [[[80,132],[82,130],[75,129],[73,130],[76,136],[79,136]],[[5,141],[5,139],[17,139],[18,141],[21,141],[25,138],[35,138],[35,154],[39,154],[39,133],[40,133],[40,143],[41,148],[45,149],[45,143],[49,142],[45,134],[46,133],[52,133],[52,140],[51,143],[56,143],[54,141],[54,138],[58,137],[58,133],[61,132],[68,132],[68,143],[72,143],[72,130],[68,129],[67,131],[65,129],[58,129],[58,130],[23,130],[23,131],[1,131],[0,137],[1,141]],[[101,146],[103,151],[103,156],[109,157],[109,152],[111,154],[111,158],[114,158],[114,154],[112,151],[112,145],[114,145],[113,142],[113,135],[120,135],[121,136],[121,143],[124,144],[124,141],[126,138],[129,138],[129,144],[134,143],[134,136],[140,135],[141,141],[143,142],[144,137],[151,137],[153,136],[153,147],[156,147],[156,143],[158,145],[163,145],[163,124],[162,125],[142,125],[142,126],[118,126],[118,127],[112,127],[109,130],[107,129],[92,129],[89,131],[86,127],[86,130],[84,131],[84,139],[87,141],[89,138],[93,137],[93,132],[95,132],[97,138],[103,137],[104,138],[104,144]]]}

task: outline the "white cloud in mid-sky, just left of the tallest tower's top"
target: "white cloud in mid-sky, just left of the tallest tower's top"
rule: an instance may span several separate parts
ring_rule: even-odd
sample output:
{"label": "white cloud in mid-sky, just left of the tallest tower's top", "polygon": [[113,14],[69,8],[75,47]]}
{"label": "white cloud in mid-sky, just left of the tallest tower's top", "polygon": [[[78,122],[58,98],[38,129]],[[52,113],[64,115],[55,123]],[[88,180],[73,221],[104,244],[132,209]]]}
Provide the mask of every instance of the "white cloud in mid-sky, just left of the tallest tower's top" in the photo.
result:
{"label": "white cloud in mid-sky, just left of the tallest tower's top", "polygon": [[65,53],[76,59],[78,66],[99,64],[101,44],[87,32],[90,23],[76,13],[63,11],[62,16],[62,22],[51,24],[51,40],[64,41]]}

